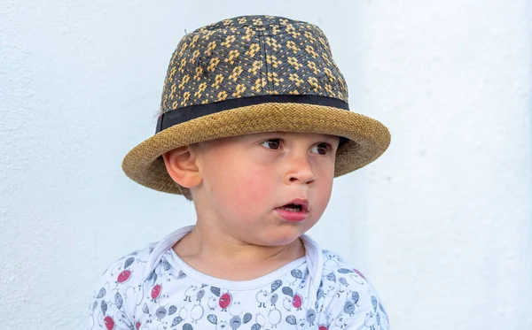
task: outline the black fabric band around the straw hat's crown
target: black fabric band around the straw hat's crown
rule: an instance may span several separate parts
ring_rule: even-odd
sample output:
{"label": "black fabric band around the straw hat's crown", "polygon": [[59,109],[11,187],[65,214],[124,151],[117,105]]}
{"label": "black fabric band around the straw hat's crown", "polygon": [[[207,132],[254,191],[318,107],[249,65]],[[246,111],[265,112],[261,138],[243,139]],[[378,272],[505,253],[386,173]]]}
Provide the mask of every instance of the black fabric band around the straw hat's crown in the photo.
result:
{"label": "black fabric band around the straw hat's crown", "polygon": [[241,98],[233,98],[231,100],[215,102],[212,104],[197,104],[189,105],[176,110],[162,113],[157,119],[157,129],[155,134],[160,131],[173,127],[177,124],[184,123],[192,119],[197,119],[216,112],[221,112],[230,109],[236,109],[243,106],[255,104],[316,104],[339,108],[342,110],[349,110],[349,105],[334,97],[329,96],[315,96],[315,95],[268,95],[268,96],[248,96]]}

